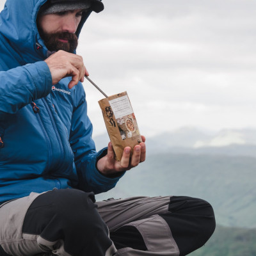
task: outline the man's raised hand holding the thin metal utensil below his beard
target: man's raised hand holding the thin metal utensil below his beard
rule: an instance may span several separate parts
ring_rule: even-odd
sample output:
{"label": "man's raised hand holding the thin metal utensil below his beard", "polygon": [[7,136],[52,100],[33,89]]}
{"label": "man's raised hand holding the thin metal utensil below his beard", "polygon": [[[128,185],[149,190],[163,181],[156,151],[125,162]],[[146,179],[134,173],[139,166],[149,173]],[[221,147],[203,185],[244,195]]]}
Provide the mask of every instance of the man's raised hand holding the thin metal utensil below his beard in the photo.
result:
{"label": "man's raised hand holding the thin metal utensil below his beard", "polygon": [[52,85],[64,77],[71,76],[72,80],[68,83],[68,88],[71,89],[79,81],[83,83],[84,75],[89,76],[84,67],[83,58],[73,53],[60,50],[52,54],[45,62],[52,75]]}

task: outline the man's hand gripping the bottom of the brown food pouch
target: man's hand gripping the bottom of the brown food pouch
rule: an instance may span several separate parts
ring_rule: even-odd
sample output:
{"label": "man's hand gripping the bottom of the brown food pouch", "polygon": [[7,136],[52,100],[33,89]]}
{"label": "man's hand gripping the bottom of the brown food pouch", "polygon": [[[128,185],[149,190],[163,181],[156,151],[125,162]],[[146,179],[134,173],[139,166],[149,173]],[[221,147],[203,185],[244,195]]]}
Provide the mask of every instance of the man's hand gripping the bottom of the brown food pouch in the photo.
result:
{"label": "man's hand gripping the bottom of the brown food pouch", "polygon": [[113,175],[114,173],[124,172],[144,162],[146,159],[145,137],[141,136],[140,145],[133,148],[132,156],[130,156],[131,148],[125,147],[121,161],[116,161],[115,152],[112,143],[108,143],[108,154],[99,159],[97,168],[104,175]]}

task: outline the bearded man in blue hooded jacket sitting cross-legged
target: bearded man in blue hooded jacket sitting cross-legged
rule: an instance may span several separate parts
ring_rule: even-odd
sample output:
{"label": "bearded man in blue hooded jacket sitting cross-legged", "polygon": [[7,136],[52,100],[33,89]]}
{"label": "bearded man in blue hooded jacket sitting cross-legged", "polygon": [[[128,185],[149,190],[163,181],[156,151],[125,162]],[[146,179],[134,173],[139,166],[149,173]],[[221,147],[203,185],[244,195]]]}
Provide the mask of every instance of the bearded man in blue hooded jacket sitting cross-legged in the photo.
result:
{"label": "bearded man in blue hooded jacket sitting cross-legged", "polygon": [[215,228],[184,196],[97,202],[145,161],[145,138],[95,151],[75,54],[99,0],[7,0],[0,14],[0,255],[186,255]]}

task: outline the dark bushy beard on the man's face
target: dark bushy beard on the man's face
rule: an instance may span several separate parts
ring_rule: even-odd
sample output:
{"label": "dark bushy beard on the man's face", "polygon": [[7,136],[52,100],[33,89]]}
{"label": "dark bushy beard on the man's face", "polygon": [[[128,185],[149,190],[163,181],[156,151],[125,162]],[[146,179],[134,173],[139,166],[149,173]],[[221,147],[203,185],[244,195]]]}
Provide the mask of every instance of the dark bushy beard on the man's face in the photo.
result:
{"label": "dark bushy beard on the man's face", "polygon": [[[76,50],[78,39],[76,34],[71,34],[68,32],[56,32],[56,33],[45,33],[40,29],[40,36],[44,40],[45,46],[49,51],[59,51],[63,50],[66,52],[73,53]],[[60,42],[59,39],[68,40],[67,43]]]}

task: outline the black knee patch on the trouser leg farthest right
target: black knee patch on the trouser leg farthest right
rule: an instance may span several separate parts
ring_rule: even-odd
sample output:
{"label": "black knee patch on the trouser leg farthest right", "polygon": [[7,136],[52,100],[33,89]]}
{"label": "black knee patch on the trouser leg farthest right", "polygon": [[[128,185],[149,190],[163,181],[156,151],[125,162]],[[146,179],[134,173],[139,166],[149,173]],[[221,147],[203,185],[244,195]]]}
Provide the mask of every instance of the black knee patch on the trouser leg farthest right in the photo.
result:
{"label": "black knee patch on the trouser leg farthest right", "polygon": [[180,256],[203,246],[214,232],[214,211],[202,199],[172,196],[168,211],[170,212],[159,215],[168,223]]}

